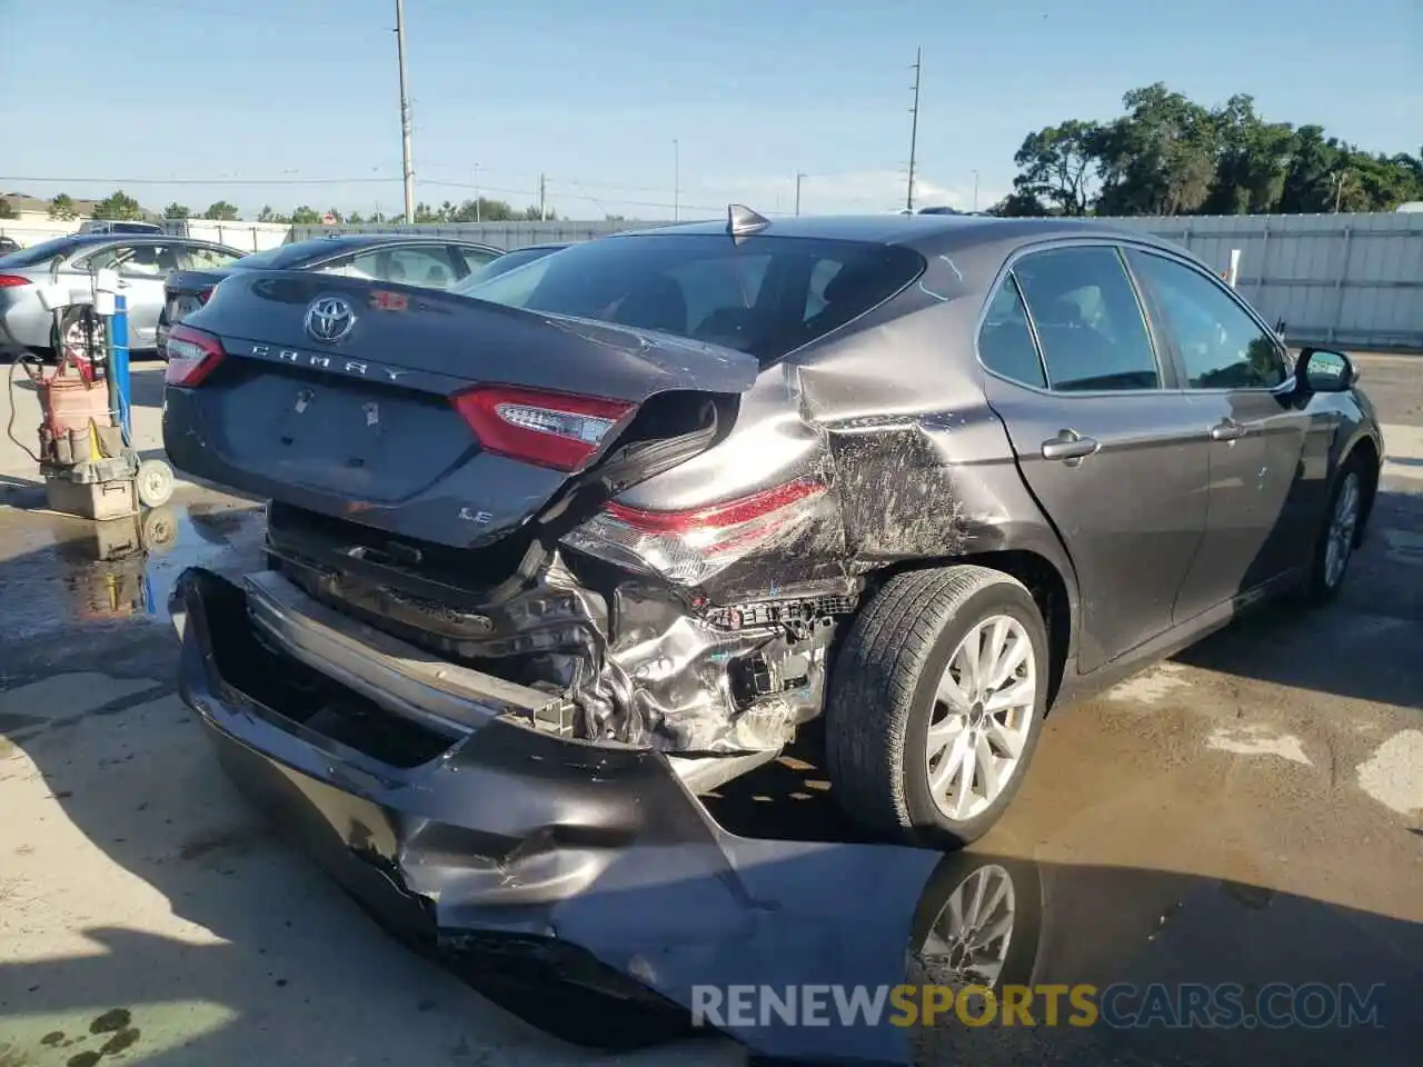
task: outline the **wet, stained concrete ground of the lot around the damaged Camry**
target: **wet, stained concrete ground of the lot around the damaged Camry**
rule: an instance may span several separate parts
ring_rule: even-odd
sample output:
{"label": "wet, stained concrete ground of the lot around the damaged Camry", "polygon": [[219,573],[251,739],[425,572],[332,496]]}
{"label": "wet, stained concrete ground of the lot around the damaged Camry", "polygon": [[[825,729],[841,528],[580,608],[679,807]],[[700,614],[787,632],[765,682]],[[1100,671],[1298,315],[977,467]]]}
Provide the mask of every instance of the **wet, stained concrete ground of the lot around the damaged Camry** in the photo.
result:
{"label": "wet, stained concrete ground of the lot around the damaged Camry", "polygon": [[[959,1027],[926,1061],[1417,1061],[1423,359],[1360,363],[1389,460],[1340,602],[1268,609],[1054,714],[962,862],[1017,872],[1017,980],[1382,982],[1390,1029]],[[139,447],[157,377],[135,388]],[[554,1040],[388,939],[235,795],[174,693],[162,605],[185,566],[256,563],[250,502],[184,488],[145,528],[95,532],[26,511],[17,458],[0,475],[0,1066],[743,1061],[719,1040]],[[837,838],[827,791],[787,758],[713,814]]]}

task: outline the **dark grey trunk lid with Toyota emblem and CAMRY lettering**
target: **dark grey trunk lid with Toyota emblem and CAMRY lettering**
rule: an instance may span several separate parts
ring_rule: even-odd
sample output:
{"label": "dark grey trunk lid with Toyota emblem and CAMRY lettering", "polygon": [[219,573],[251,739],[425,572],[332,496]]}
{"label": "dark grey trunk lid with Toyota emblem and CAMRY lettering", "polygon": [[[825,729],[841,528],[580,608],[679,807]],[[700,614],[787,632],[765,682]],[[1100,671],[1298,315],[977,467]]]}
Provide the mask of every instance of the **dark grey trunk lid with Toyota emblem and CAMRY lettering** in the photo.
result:
{"label": "dark grey trunk lid with Toyota emblem and CAMRY lettering", "polygon": [[[223,356],[195,387],[171,377],[181,469],[458,548],[522,526],[610,451],[702,432],[707,403],[758,370],[667,334],[295,270],[233,272],[184,326]],[[561,397],[573,421],[548,414]],[[593,454],[541,460],[551,418]]]}

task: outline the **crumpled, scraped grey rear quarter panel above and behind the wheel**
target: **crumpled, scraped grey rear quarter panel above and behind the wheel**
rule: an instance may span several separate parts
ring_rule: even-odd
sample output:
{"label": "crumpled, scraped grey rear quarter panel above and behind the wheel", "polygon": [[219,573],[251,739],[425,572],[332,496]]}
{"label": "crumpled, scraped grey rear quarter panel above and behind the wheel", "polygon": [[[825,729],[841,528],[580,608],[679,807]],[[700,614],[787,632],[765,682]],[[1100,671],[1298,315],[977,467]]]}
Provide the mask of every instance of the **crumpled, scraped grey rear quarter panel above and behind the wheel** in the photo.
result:
{"label": "crumpled, scraped grey rear quarter panel above and behind the wheel", "polygon": [[[862,576],[882,566],[1029,551],[1064,576],[1073,610],[1067,558],[983,396],[972,339],[1002,255],[975,256],[931,256],[909,290],[763,370],[724,441],[619,498],[679,511],[794,478],[831,488],[814,522],[703,588],[619,588],[609,660],[636,683],[629,691],[638,724],[675,737],[677,748],[788,737],[820,713],[828,646],[854,610]],[[794,633],[726,632],[729,615],[746,609],[747,619],[761,619],[766,602],[795,602],[810,622]],[[629,626],[659,613],[656,625]],[[773,687],[804,670],[805,684],[739,706],[733,662],[771,671]]]}

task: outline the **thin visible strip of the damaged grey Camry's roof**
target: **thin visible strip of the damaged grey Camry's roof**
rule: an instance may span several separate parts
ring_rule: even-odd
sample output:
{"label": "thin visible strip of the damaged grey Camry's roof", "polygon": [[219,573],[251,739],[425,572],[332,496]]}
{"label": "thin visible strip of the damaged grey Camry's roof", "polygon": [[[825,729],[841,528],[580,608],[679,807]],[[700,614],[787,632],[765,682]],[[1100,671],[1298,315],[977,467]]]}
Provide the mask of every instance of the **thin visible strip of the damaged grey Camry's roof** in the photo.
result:
{"label": "thin visible strip of the damaged grey Camry's roof", "polygon": [[[717,219],[714,222],[687,222],[625,230],[612,235],[612,238],[666,233],[724,235],[726,228],[726,221]],[[1000,219],[992,215],[794,215],[771,219],[770,225],[758,230],[756,236],[908,245],[921,252],[980,245],[1029,245],[1037,240],[1070,236],[1130,238],[1148,245],[1174,248],[1144,232],[1111,226],[1096,219]]]}

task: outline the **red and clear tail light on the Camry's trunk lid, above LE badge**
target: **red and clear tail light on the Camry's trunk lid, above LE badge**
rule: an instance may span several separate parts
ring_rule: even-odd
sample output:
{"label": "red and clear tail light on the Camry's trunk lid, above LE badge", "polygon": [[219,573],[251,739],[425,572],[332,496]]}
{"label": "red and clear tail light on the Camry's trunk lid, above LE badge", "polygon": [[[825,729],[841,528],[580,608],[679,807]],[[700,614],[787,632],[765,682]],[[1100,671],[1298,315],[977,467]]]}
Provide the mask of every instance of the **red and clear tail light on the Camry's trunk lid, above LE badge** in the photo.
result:
{"label": "red and clear tail light on the Camry's trunk lid, above LE badge", "polygon": [[636,404],[542,390],[481,386],[457,393],[455,410],[487,452],[576,471]]}

